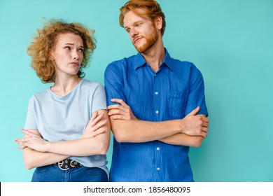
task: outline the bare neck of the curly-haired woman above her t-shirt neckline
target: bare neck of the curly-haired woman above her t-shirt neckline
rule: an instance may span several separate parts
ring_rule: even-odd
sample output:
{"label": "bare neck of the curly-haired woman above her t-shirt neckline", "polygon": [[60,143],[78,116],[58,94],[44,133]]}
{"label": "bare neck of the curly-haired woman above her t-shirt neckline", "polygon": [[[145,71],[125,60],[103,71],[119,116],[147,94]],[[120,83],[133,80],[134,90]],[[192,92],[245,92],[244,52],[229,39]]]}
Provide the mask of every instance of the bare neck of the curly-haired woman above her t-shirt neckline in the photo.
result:
{"label": "bare neck of the curly-haired woman above her t-shirt neckline", "polygon": [[70,78],[55,78],[55,84],[51,87],[52,92],[59,96],[64,96],[73,90],[78,83],[80,83],[78,76],[72,76]]}

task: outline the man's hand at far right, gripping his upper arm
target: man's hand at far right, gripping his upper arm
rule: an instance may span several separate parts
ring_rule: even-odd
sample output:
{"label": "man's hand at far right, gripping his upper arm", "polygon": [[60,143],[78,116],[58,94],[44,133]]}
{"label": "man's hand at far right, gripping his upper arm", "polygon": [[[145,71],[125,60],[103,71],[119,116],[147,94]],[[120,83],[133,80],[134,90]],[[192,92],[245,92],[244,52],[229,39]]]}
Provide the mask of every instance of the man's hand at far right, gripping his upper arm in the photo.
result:
{"label": "man's hand at far right, gripping his upper arm", "polygon": [[207,132],[209,131],[209,119],[202,115],[196,115],[198,111],[200,111],[200,107],[197,107],[182,119],[182,132],[184,134],[206,138]]}

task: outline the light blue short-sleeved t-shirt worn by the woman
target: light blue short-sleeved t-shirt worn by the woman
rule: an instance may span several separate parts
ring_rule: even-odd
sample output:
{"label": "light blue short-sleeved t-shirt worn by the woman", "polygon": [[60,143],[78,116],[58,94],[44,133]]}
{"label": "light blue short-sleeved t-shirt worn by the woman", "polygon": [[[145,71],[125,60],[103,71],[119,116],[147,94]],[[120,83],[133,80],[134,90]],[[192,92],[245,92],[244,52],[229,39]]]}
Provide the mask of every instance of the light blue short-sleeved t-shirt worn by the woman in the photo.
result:
{"label": "light blue short-sleeved t-shirt worn by the woman", "polygon": [[[80,139],[94,111],[106,109],[105,90],[99,83],[82,79],[60,97],[50,88],[29,99],[25,130],[38,130],[47,141]],[[85,167],[99,167],[107,174],[106,155],[71,156]]]}

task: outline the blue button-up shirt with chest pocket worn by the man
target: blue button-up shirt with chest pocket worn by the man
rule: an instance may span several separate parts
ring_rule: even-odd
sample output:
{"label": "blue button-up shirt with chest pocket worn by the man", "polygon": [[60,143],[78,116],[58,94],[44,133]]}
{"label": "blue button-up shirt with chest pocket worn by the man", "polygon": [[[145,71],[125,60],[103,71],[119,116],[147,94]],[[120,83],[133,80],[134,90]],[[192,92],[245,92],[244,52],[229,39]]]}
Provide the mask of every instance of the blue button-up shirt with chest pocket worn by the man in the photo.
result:
{"label": "blue button-up shirt with chest pocket worn by the man", "polygon": [[[123,99],[141,120],[181,119],[200,106],[208,115],[202,74],[191,62],[169,56],[155,73],[139,53],[112,62],[104,75],[107,105]],[[148,130],[147,130],[148,131]],[[188,146],[161,141],[119,143],[113,140],[110,181],[193,181]]]}

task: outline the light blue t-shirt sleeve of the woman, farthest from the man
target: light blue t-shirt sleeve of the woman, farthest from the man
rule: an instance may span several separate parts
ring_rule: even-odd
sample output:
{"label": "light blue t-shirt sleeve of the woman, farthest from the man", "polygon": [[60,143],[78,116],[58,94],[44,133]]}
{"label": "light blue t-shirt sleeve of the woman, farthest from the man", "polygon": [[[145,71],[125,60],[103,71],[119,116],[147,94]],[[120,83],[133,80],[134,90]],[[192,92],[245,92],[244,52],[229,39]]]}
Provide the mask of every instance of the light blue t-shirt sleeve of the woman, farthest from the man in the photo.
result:
{"label": "light blue t-shirt sleeve of the woman, farthest from the man", "polygon": [[29,99],[29,106],[27,109],[27,119],[25,123],[25,130],[37,130],[35,118],[35,109],[34,109],[34,96]]}

